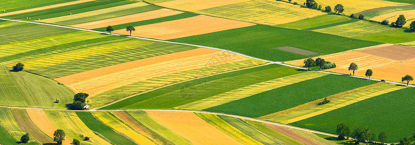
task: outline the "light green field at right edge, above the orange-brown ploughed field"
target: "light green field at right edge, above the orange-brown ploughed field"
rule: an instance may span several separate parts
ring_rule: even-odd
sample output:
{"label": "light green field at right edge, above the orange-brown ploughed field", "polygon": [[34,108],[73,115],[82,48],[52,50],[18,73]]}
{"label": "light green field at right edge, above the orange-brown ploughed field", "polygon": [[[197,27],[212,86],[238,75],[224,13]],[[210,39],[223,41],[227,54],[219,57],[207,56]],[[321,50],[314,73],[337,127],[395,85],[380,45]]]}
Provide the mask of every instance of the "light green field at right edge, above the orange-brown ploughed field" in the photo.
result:
{"label": "light green field at right edge, above the orange-brown ploughed field", "polygon": [[395,29],[391,31],[355,37],[355,39],[392,44],[406,43],[415,41],[415,33],[408,30]]}

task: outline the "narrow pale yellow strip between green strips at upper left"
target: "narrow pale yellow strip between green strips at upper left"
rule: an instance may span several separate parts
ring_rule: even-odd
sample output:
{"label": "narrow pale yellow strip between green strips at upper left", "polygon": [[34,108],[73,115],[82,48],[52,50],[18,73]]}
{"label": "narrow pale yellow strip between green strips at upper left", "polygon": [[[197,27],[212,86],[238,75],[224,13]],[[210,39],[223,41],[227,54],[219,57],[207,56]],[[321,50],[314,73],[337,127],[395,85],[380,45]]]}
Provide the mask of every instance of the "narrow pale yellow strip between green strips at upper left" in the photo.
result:
{"label": "narrow pale yellow strip between green strips at upper left", "polygon": [[126,9],[132,9],[132,8],[146,6],[146,5],[148,5],[148,4],[146,4],[144,2],[137,2],[137,3],[127,4],[127,5],[116,6],[116,7],[112,7],[112,8],[106,8],[106,9],[100,9],[100,10],[96,10],[96,11],[80,13],[80,14],[72,14],[72,15],[54,17],[54,18],[49,18],[49,19],[44,19],[44,20],[37,20],[37,22],[56,23],[56,22],[61,22],[61,21],[66,21],[66,20],[73,20],[73,19],[78,19],[78,18],[83,18],[83,17],[88,17],[88,16],[94,16],[94,15],[99,15],[99,14],[107,14],[107,13],[111,13],[111,12],[116,12],[116,11],[121,11],[121,10],[126,10]]}

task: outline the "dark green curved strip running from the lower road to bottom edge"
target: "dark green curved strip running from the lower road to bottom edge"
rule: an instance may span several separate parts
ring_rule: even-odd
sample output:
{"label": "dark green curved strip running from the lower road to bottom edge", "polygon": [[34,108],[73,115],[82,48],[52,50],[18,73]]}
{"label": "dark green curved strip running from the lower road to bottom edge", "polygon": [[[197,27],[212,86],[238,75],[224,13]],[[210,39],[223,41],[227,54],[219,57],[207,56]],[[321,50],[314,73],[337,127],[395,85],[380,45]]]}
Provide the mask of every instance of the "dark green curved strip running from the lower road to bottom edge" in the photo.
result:
{"label": "dark green curved strip running from the lower road to bottom edge", "polygon": [[108,126],[105,126],[100,121],[95,119],[89,112],[76,112],[76,115],[83,121],[83,123],[92,131],[96,131],[103,135],[116,145],[135,145],[132,141],[124,136],[116,133]]}

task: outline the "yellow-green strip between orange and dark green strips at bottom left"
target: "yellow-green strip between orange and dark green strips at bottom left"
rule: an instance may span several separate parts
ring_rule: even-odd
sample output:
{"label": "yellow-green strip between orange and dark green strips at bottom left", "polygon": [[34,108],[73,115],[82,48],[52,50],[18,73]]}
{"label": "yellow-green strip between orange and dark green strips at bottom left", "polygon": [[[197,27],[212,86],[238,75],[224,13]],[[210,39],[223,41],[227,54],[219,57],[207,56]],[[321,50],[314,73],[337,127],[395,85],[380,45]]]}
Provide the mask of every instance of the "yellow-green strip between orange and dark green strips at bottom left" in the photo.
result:
{"label": "yellow-green strip between orange and dark green strips at bottom left", "polygon": [[[50,122],[53,126],[58,129],[64,130],[66,133],[66,138],[70,141],[73,139],[78,139],[82,144],[100,144],[100,145],[111,145],[104,139],[100,138],[93,131],[91,131],[86,125],[82,122],[81,119],[73,111],[56,111],[56,110],[44,110],[48,116]],[[80,136],[87,136],[90,138],[89,141],[83,141],[83,138]]]}

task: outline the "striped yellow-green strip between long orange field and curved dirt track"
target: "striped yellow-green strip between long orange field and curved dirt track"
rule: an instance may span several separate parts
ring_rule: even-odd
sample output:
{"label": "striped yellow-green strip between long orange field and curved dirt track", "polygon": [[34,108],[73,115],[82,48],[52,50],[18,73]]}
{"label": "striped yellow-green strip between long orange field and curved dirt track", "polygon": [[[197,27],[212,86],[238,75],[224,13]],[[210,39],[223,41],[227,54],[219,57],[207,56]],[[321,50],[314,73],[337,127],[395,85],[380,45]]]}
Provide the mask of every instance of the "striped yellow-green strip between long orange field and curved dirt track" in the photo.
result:
{"label": "striped yellow-green strip between long orange field and curved dirt track", "polygon": [[[126,86],[118,87],[118,88],[109,90],[107,92],[101,93],[94,98],[90,98],[90,102],[92,102],[91,105],[94,104],[94,106],[98,105],[96,104],[97,102],[110,103],[110,101],[112,100],[121,99],[121,98],[128,97],[134,94],[138,94],[138,93],[141,93],[147,90],[151,90],[157,87],[162,87],[168,84],[173,84],[173,83],[177,83],[177,82],[181,82],[181,81],[185,81],[189,79],[194,79],[197,77],[212,75],[216,73],[223,73],[223,72],[228,72],[232,70],[249,68],[249,67],[264,64],[265,62],[260,61],[260,60],[255,60],[255,59],[248,59],[248,60],[242,60],[242,61],[237,61],[233,63],[226,63],[223,61],[219,61],[216,63],[218,63],[219,65],[215,65],[215,66],[209,65],[209,66],[206,66],[200,69],[193,69],[193,70],[183,71],[179,73],[162,75],[162,76],[154,77],[148,80],[139,81],[139,82],[135,82],[135,83],[132,83]],[[191,82],[201,83],[207,80],[209,79],[198,79],[196,81],[193,80]],[[182,85],[177,84],[177,85],[174,85],[173,88],[176,88],[176,87],[182,87]],[[120,103],[117,103],[116,105],[111,105],[110,107],[105,107],[105,108],[116,109],[118,107],[126,107],[126,105],[131,105],[135,102],[138,102],[138,101],[135,101],[135,99],[138,99],[138,98],[140,97],[133,97],[131,99],[129,98],[127,99],[128,101],[121,101]]]}

